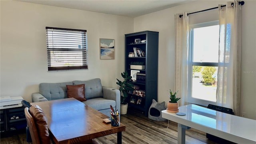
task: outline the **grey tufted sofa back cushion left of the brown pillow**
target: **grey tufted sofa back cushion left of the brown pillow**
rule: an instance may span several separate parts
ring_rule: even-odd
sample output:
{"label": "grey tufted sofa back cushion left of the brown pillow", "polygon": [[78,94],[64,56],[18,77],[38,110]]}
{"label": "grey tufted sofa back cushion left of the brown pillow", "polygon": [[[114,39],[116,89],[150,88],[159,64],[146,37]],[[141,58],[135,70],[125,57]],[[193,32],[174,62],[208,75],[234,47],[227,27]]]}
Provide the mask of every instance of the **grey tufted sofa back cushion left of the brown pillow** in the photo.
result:
{"label": "grey tufted sofa back cushion left of the brown pillow", "polygon": [[39,93],[47,100],[68,98],[66,85],[73,85],[73,82],[41,83],[39,84]]}

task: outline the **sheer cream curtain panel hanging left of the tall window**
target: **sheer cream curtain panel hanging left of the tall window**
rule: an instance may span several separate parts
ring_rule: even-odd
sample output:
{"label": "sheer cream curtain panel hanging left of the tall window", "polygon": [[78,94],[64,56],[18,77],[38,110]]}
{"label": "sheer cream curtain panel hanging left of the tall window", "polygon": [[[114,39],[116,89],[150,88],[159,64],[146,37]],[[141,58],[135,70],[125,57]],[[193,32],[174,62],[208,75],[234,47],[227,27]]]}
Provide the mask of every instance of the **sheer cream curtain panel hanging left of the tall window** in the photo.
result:
{"label": "sheer cream curtain panel hanging left of the tall window", "polygon": [[175,15],[176,27],[176,80],[175,92],[179,90],[178,97],[180,106],[187,104],[188,97],[188,36],[189,36],[189,17],[187,12]]}

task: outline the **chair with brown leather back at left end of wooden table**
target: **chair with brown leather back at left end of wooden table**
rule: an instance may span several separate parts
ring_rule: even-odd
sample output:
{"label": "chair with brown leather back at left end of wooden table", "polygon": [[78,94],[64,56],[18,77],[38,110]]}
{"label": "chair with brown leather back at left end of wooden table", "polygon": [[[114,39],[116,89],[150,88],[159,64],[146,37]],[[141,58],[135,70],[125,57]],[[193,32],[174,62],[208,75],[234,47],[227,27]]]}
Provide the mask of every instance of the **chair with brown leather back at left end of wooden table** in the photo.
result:
{"label": "chair with brown leather back at left end of wooden table", "polygon": [[[25,116],[33,144],[52,144],[48,132],[47,118],[39,106],[26,107]],[[79,144],[99,144],[96,140],[79,142]]]}

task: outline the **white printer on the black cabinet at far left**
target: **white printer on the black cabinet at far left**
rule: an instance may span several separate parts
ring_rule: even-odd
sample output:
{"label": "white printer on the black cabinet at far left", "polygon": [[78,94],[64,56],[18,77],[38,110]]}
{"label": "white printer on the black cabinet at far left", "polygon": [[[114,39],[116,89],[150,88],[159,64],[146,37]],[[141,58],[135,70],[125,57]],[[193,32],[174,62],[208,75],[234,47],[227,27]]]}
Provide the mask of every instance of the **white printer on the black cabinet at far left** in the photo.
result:
{"label": "white printer on the black cabinet at far left", "polygon": [[21,107],[21,101],[24,100],[21,96],[10,97],[0,96],[0,109]]}

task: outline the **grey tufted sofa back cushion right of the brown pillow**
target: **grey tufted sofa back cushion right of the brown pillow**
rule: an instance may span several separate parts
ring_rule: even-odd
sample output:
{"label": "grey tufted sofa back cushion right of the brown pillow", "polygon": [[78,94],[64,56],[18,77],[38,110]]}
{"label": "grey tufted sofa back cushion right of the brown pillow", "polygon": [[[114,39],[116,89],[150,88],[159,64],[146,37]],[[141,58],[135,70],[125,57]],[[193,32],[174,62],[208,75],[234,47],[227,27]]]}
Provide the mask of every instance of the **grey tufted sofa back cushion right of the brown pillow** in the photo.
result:
{"label": "grey tufted sofa back cushion right of the brown pillow", "polygon": [[102,98],[103,92],[102,92],[102,85],[100,82],[100,78],[94,78],[92,80],[74,80],[73,85],[77,84],[85,84],[85,96],[86,100],[91,98]]}

